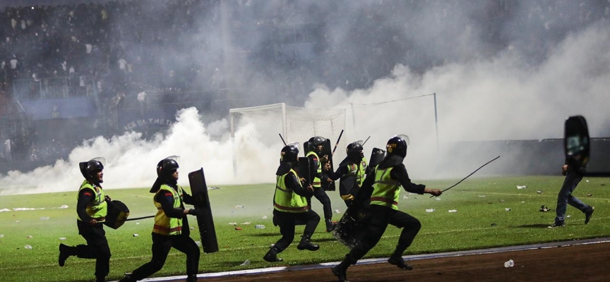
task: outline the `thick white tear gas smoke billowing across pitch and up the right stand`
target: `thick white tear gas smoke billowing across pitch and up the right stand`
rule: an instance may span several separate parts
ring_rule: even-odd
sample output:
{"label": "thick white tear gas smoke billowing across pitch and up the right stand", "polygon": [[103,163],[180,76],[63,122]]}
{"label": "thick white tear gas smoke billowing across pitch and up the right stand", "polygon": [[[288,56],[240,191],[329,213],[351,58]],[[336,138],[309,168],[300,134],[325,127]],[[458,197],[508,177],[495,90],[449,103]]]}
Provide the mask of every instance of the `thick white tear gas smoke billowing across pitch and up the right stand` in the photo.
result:
{"label": "thick white tear gas smoke billowing across pitch and up the right stand", "polygon": [[[432,93],[441,151],[457,141],[562,137],[563,119],[575,114],[587,118],[592,136],[610,134],[610,3],[403,2],[237,1],[208,12],[198,23],[205,31],[182,46],[191,49],[193,59],[207,62],[210,72],[218,58],[227,59],[224,83],[256,85],[249,97],[241,97],[246,101],[346,109],[343,138],[352,142],[370,135],[367,157],[372,147],[383,149],[389,137],[409,135],[405,164],[416,180],[441,176],[434,169],[443,153],[437,152]],[[239,20],[208,28],[222,16]],[[269,59],[268,35],[232,30],[244,23],[270,24],[262,19],[292,27],[319,23],[324,40],[309,59],[311,68],[288,68]],[[241,55],[228,59],[227,49]],[[176,62],[184,58],[181,53],[165,56],[175,56]],[[273,183],[281,143],[263,144],[237,133],[247,158],[235,177],[227,122],[204,124],[207,114],[184,109],[167,135],[148,141],[138,133],[88,140],[68,161],[13,171],[0,183],[12,187],[10,192],[76,190],[82,178],[78,161],[103,156],[108,188],[148,187],[155,164],[173,154],[181,155],[183,184],[186,173],[200,167],[208,185]]]}

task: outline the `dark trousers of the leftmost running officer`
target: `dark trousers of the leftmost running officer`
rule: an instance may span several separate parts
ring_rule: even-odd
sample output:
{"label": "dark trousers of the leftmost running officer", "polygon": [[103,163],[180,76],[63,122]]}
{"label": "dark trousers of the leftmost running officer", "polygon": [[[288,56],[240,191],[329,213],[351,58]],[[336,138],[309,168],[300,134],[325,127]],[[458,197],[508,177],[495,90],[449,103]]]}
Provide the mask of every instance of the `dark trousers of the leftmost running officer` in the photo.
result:
{"label": "dark trousers of the leftmost running officer", "polygon": [[95,259],[95,277],[106,277],[110,271],[110,247],[106,239],[104,225],[97,223],[90,226],[83,221],[76,221],[78,234],[85,238],[87,245],[77,245],[74,255],[83,259]]}

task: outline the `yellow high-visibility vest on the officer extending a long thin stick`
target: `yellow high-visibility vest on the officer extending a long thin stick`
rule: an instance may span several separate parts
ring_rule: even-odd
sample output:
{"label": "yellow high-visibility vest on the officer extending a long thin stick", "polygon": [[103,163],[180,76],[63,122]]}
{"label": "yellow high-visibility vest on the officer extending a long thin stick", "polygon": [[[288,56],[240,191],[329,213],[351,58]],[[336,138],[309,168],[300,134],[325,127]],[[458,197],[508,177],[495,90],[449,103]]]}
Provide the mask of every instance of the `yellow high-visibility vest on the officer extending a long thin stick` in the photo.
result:
{"label": "yellow high-visibility vest on the officer extending a long thin stick", "polygon": [[378,166],[375,167],[375,183],[373,183],[371,204],[398,209],[400,183],[390,178],[391,171],[391,167],[385,169],[378,169]]}

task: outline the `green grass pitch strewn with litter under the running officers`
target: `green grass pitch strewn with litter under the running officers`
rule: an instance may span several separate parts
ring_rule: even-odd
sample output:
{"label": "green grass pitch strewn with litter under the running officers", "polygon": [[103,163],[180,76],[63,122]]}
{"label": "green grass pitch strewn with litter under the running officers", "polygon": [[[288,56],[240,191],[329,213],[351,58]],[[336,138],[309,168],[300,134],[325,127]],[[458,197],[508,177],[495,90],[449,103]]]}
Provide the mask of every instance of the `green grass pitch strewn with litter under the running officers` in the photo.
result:
{"label": "green grass pitch strewn with litter under the running officers", "polygon": [[[416,182],[443,189],[456,180]],[[557,192],[562,182],[563,177],[554,176],[469,178],[438,198],[440,200],[410,195],[402,190],[400,209],[422,223],[419,235],[405,255],[609,236],[609,178],[585,178],[573,194],[595,207],[589,224],[585,226],[584,214],[568,207],[570,217],[566,219],[565,228],[546,228],[553,223]],[[527,185],[527,188],[518,190],[516,185]],[[270,244],[280,238],[279,228],[272,223],[273,190],[273,184],[221,186],[221,189],[209,190],[220,252],[204,254],[202,250],[201,273],[277,265],[262,258]],[[333,209],[340,212],[334,214],[333,219],[338,220],[345,212],[345,204],[338,191],[328,193]],[[131,209],[131,218],[155,212],[148,188],[107,189],[107,195],[125,202]],[[94,260],[70,257],[66,266],[57,265],[59,243],[85,243],[76,228],[75,204],[76,190],[0,196],[0,210],[4,210],[0,212],[0,281],[92,281]],[[542,204],[553,211],[539,212]],[[62,205],[68,208],[59,209]],[[44,209],[14,210],[19,208]],[[321,204],[315,199],[313,209],[322,214]],[[426,209],[435,210],[426,212]],[[453,209],[457,212],[448,212]],[[189,219],[194,222],[193,217]],[[229,223],[237,223],[242,229],[236,230],[236,226]],[[257,229],[256,224],[266,228]],[[302,228],[297,227],[297,236]],[[104,229],[112,251],[109,280],[118,280],[124,271],[131,271],[150,260],[152,219],[128,221],[117,230]],[[388,227],[380,243],[366,258],[388,257],[399,235],[399,229]],[[199,240],[198,232],[193,231],[191,237]],[[324,231],[323,223],[318,226],[312,241],[321,245],[317,252],[297,250],[294,243],[298,240],[295,239],[279,257],[285,259],[284,264],[312,264],[335,262],[348,252],[347,247]],[[31,245],[32,249],[26,249],[25,245]],[[240,266],[246,259],[251,263]],[[184,275],[185,271],[185,256],[172,250],[165,267],[155,276]]]}

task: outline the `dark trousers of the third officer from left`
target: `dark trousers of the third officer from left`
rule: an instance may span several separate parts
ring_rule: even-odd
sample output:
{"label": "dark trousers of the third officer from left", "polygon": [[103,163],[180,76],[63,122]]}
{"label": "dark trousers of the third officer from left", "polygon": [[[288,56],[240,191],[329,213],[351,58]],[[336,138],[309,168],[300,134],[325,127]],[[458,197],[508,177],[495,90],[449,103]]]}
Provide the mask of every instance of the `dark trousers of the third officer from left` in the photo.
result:
{"label": "dark trousers of the third officer from left", "polygon": [[305,223],[305,230],[303,234],[313,234],[320,223],[320,216],[313,212],[311,209],[308,212],[279,212],[273,210],[273,224],[280,226],[280,234],[282,238],[277,240],[274,247],[277,252],[282,252],[292,243],[294,240],[294,226],[297,223]]}

